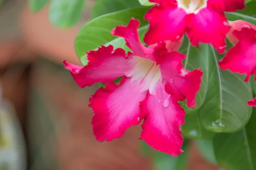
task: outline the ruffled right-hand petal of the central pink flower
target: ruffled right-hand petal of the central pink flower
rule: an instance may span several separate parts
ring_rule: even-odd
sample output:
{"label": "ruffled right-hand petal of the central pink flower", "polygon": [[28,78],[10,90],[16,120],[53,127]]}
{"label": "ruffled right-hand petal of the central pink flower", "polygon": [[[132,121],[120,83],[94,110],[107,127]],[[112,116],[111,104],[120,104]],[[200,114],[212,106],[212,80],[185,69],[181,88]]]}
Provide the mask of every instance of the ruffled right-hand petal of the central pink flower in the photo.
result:
{"label": "ruffled right-hand petal of the central pink flower", "polygon": [[160,62],[160,71],[166,84],[166,92],[174,94],[178,101],[187,99],[187,106],[193,108],[196,105],[195,96],[201,86],[203,72],[201,69],[187,71],[183,69],[182,60],[184,54],[171,52]]}

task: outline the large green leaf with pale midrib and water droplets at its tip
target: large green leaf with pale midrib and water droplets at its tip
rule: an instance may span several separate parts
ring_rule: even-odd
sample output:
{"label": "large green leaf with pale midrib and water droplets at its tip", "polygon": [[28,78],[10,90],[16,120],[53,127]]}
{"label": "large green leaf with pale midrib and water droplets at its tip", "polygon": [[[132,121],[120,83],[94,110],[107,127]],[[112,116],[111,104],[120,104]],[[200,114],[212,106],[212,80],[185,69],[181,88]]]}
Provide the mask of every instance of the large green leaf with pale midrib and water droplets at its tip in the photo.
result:
{"label": "large green leaf with pale midrib and water droplets at its tip", "polygon": [[245,75],[232,74],[218,68],[221,58],[211,47],[209,57],[209,87],[203,106],[199,109],[201,124],[214,132],[234,132],[248,122],[252,108],[247,101],[252,99],[250,83]]}

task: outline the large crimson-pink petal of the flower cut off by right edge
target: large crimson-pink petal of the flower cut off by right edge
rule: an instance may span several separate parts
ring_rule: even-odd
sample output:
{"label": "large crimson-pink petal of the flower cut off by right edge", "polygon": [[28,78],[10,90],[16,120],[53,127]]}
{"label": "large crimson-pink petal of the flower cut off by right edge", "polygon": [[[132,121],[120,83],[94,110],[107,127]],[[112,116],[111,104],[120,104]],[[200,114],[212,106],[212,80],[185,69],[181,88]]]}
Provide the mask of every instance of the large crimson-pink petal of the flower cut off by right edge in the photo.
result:
{"label": "large crimson-pink petal of the flower cut off by right edge", "polygon": [[233,31],[233,34],[239,42],[219,61],[219,66],[223,70],[247,74],[244,81],[248,82],[250,75],[256,74],[256,30],[242,28],[241,31]]}

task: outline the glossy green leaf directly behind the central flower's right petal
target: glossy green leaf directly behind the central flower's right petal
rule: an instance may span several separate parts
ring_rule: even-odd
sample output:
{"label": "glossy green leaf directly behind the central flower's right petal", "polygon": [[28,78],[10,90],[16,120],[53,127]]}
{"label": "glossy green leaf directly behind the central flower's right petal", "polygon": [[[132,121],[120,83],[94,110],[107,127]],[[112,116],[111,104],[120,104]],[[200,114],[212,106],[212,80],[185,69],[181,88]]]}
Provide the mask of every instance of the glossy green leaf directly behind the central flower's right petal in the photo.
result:
{"label": "glossy green leaf directly behind the central flower's right petal", "polygon": [[183,66],[187,70],[194,70],[201,68],[204,72],[201,88],[196,95],[196,106],[195,108],[187,108],[186,101],[180,102],[181,106],[185,109],[186,113],[191,113],[197,111],[204,103],[207,89],[208,89],[208,79],[209,79],[209,45],[202,44],[199,48],[192,46],[189,39],[184,36],[183,44],[180,47],[180,52],[186,54],[186,59],[183,60]]}

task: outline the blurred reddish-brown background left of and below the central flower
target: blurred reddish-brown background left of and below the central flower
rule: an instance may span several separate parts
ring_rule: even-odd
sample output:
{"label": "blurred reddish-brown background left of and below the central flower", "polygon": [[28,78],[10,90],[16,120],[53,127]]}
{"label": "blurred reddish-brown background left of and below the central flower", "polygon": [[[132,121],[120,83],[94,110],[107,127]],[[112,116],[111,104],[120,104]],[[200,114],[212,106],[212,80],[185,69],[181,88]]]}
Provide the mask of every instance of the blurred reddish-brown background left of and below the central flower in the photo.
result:
{"label": "blurred reddish-brown background left of and below the central flower", "polygon": [[[152,152],[142,152],[140,126],[96,142],[87,105],[98,86],[79,88],[62,65],[79,64],[73,42],[94,1],[76,26],[61,29],[49,23],[49,5],[33,13],[26,0],[0,0],[0,170],[157,169]],[[186,170],[206,169],[217,167],[189,141]]]}

